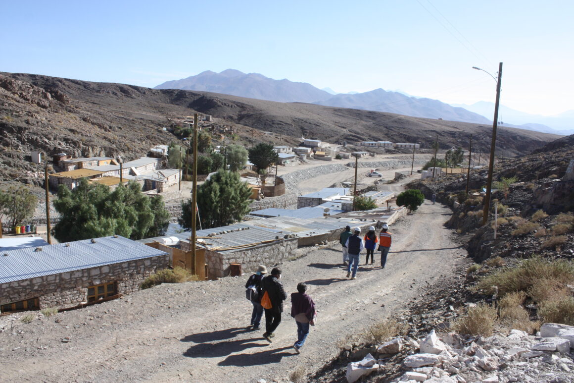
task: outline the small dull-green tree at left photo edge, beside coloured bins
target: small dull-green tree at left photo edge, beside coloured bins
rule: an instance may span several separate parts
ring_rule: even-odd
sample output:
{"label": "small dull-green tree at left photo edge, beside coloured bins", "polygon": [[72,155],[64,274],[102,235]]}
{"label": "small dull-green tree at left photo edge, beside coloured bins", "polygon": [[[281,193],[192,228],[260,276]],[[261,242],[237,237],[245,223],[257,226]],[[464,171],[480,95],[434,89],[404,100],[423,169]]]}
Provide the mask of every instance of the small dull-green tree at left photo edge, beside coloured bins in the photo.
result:
{"label": "small dull-green tree at left photo edge, beside coloured bins", "polygon": [[0,190],[0,220],[6,216],[10,227],[22,224],[33,215],[37,202],[38,197],[24,185],[10,186],[7,191]]}

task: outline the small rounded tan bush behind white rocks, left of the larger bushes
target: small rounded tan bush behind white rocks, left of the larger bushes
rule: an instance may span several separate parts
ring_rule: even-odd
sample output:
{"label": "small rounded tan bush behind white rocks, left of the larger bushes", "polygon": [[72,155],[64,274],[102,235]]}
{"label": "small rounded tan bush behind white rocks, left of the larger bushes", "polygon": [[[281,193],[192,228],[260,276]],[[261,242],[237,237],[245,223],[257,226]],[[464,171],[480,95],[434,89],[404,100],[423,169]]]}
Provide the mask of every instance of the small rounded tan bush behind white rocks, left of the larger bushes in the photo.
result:
{"label": "small rounded tan bush behind white rocks, left of the larger bushes", "polygon": [[497,309],[493,305],[480,302],[469,307],[466,315],[458,317],[451,323],[451,329],[461,335],[490,336],[497,324]]}

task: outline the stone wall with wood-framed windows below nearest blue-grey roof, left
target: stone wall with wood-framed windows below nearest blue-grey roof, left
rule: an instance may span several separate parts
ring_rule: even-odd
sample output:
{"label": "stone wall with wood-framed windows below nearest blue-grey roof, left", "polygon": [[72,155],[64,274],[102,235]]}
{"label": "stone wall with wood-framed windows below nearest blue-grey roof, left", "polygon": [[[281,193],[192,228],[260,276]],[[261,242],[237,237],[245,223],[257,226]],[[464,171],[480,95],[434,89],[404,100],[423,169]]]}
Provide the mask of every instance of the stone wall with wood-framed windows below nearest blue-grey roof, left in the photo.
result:
{"label": "stone wall with wood-framed windows below nearest blue-grey roof, left", "polygon": [[87,301],[89,286],[115,282],[117,293],[126,294],[138,290],[156,270],[167,267],[169,254],[7,282],[0,284],[0,304],[39,298],[40,308],[73,307]]}

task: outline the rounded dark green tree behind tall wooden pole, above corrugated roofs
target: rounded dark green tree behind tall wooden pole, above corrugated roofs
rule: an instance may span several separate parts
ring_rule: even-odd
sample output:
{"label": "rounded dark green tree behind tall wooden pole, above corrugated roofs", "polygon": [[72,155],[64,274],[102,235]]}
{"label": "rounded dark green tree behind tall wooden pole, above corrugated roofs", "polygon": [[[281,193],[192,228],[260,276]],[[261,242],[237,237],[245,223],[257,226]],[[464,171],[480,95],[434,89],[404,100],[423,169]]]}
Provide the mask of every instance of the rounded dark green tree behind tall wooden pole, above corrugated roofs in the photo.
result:
{"label": "rounded dark green tree behind tall wooden pole, above corrugated roofs", "polygon": [[[251,189],[239,174],[219,170],[197,188],[197,207],[203,228],[230,225],[249,212]],[[179,224],[191,228],[191,200],[181,204],[183,215]]]}

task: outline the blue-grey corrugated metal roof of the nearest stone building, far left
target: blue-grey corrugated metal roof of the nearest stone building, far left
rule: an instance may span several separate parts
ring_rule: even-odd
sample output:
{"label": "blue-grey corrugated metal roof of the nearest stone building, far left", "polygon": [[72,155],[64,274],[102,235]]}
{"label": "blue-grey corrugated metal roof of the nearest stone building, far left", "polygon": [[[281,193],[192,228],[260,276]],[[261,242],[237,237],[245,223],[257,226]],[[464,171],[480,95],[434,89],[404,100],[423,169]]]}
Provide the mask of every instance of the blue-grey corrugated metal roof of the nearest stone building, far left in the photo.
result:
{"label": "blue-grey corrugated metal roof of the nearest stone building, far left", "polygon": [[70,242],[69,246],[53,244],[41,249],[1,252],[8,255],[0,256],[0,284],[167,254],[121,236],[96,238],[95,243],[86,239]]}

